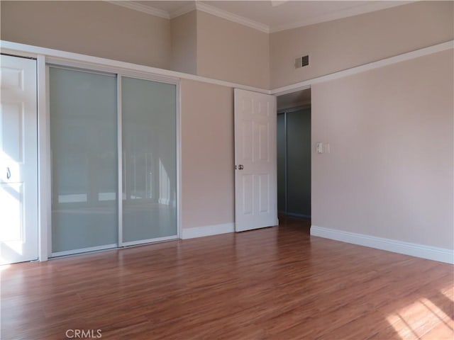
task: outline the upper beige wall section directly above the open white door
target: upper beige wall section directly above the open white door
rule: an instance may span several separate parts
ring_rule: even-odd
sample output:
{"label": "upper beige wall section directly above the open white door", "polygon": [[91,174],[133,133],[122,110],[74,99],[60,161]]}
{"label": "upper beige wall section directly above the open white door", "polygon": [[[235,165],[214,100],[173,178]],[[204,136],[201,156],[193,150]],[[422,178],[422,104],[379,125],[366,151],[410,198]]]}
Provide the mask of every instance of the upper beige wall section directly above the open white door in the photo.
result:
{"label": "upper beige wall section directly above the open white door", "polygon": [[197,72],[200,76],[270,88],[267,33],[197,13]]}

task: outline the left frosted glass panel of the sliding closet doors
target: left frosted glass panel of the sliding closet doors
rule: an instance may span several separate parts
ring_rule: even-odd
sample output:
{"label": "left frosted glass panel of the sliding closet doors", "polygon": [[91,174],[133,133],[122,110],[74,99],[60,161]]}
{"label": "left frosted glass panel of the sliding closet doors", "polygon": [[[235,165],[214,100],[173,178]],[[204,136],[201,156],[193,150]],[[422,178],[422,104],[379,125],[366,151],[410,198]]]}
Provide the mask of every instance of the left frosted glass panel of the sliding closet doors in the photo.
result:
{"label": "left frosted glass panel of the sliding closet doors", "polygon": [[116,119],[116,77],[50,67],[52,253],[118,243]]}

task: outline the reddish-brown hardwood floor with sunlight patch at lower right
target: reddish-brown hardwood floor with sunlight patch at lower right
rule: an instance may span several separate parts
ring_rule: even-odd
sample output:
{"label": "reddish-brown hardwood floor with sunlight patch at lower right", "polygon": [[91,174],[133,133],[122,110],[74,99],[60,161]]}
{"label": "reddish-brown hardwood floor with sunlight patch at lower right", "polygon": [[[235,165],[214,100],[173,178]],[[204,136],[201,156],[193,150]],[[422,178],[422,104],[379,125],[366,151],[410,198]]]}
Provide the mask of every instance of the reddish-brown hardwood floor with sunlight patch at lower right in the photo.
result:
{"label": "reddish-brown hardwood floor with sunlight patch at lower right", "polygon": [[453,339],[453,285],[448,264],[287,219],[2,268],[1,339]]}

